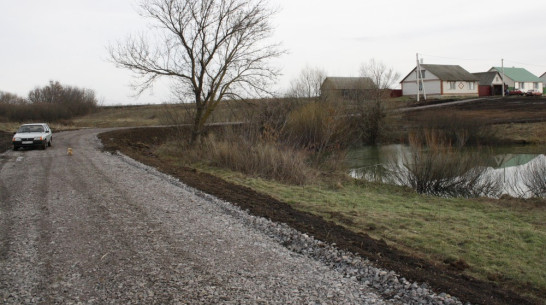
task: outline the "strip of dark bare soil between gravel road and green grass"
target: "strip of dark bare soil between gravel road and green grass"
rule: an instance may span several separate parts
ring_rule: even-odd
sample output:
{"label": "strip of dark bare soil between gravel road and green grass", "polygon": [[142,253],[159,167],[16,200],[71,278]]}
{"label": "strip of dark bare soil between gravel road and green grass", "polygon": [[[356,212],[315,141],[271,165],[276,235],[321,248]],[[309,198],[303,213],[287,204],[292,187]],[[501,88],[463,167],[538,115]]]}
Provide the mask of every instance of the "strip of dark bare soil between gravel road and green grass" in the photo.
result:
{"label": "strip of dark bare soil between gravel road and green grass", "polygon": [[[248,210],[253,215],[286,223],[317,239],[335,243],[341,249],[367,257],[379,266],[394,270],[412,281],[427,282],[438,291],[450,293],[462,301],[493,305],[541,304],[540,301],[525,298],[494,282],[470,278],[462,274],[460,266],[456,264],[435,264],[412,257],[387,245],[382,240],[351,232],[321,217],[295,210],[287,203],[257,193],[250,188],[228,183],[191,168],[167,164],[153,153],[153,148],[169,139],[173,133],[174,130],[169,128],[139,128],[113,131],[101,134],[99,137],[108,151],[119,150],[140,162],[179,178],[189,186]],[[546,297],[544,292],[535,291],[534,294]]]}

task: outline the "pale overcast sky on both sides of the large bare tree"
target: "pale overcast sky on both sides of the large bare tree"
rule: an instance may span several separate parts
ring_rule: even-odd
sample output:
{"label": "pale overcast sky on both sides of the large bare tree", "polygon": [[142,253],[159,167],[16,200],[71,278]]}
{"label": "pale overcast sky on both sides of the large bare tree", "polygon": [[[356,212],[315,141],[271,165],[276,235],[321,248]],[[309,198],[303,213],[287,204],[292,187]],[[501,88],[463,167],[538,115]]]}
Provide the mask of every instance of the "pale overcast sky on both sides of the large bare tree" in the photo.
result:
{"label": "pale overcast sky on both sides of the large bare tree", "polygon": [[[95,90],[106,105],[161,103],[166,85],[134,97],[131,74],[107,61],[108,45],[145,29],[138,0],[0,2],[0,91],[27,96],[50,80]],[[546,72],[544,0],[270,0],[280,9],[275,38],[278,91],[306,66],[358,76],[369,59],[407,75],[419,53],[428,64],[469,72],[500,66]]]}

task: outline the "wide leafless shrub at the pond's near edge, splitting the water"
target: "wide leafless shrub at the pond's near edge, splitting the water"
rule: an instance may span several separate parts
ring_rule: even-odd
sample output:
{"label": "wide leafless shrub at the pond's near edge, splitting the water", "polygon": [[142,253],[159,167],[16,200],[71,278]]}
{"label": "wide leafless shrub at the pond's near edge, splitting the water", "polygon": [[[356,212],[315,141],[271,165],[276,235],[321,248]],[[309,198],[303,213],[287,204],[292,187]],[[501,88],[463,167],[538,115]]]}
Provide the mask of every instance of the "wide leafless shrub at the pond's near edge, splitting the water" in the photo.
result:
{"label": "wide leafless shrub at the pond's near edge, splitting the water", "polygon": [[500,180],[481,165],[479,152],[454,149],[437,134],[430,135],[425,144],[410,138],[410,153],[389,165],[390,182],[435,196],[500,195]]}

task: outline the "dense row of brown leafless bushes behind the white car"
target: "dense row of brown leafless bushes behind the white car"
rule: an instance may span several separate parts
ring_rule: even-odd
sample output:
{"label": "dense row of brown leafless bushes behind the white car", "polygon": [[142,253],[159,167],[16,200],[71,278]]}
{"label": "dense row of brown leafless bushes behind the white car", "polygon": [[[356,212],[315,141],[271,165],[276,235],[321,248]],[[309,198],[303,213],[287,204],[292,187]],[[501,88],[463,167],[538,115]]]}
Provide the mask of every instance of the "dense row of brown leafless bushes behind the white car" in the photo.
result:
{"label": "dense row of brown leafless bushes behind the white car", "polygon": [[27,98],[0,92],[0,120],[54,122],[95,111],[95,92],[59,82],[30,91]]}

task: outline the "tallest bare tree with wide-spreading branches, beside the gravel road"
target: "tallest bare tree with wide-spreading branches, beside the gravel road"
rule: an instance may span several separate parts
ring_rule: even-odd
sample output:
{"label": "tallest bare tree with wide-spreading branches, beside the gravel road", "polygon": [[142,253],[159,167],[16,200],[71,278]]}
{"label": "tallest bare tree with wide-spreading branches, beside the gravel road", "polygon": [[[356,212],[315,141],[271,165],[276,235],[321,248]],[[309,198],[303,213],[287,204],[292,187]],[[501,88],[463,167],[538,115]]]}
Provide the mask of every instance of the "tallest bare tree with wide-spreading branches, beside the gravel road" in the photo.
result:
{"label": "tallest bare tree with wide-spreading branches, beside the gravel road", "polygon": [[221,101],[269,93],[278,75],[269,60],[284,51],[269,41],[275,12],[265,0],[144,0],[140,8],[159,38],[130,37],[110,57],[140,79],[139,94],[167,77],[180,102],[193,101],[191,143]]}

